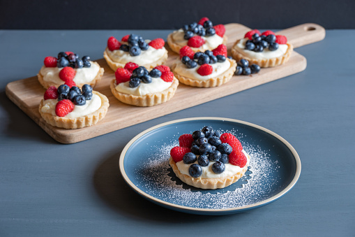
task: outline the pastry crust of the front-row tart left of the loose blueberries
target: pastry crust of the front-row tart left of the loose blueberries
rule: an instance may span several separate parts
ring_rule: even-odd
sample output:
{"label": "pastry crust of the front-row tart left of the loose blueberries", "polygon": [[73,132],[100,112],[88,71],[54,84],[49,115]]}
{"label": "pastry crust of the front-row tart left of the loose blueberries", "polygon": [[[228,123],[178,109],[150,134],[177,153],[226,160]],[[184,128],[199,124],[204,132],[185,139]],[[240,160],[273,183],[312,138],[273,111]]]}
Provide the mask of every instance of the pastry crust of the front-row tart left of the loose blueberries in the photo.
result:
{"label": "pastry crust of the front-row tart left of the loose blueberries", "polygon": [[217,76],[216,78],[210,78],[208,80],[195,80],[193,78],[186,78],[180,76],[174,71],[176,64],[172,65],[172,72],[174,73],[174,76],[178,78],[179,82],[185,85],[190,85],[192,87],[218,87],[227,83],[234,75],[234,71],[236,71],[236,62],[233,59],[229,58],[226,58],[226,60],[228,60],[230,63],[229,69],[227,69],[227,71],[225,71],[224,73],[220,74],[220,76]]}

